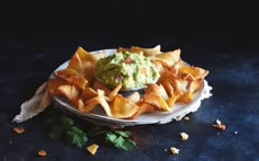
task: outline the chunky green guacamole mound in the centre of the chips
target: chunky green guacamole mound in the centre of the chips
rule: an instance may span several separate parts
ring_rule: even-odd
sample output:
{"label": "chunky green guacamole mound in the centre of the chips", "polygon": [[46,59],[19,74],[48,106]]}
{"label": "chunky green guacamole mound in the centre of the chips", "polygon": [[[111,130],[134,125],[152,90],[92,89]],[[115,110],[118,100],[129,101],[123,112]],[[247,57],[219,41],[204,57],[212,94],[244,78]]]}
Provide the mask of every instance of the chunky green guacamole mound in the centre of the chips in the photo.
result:
{"label": "chunky green guacamole mound in the centre of the chips", "polygon": [[159,71],[148,57],[130,51],[99,59],[94,74],[113,88],[122,83],[122,89],[145,87],[159,78]]}

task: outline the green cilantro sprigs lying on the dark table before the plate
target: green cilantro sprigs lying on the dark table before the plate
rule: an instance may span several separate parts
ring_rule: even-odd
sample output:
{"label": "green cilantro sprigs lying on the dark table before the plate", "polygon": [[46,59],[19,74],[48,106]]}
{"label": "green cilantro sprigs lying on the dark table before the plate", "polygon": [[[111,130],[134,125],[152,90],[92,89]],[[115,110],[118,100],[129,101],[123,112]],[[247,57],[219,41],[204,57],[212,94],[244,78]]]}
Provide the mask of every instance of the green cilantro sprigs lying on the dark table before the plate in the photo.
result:
{"label": "green cilantro sprigs lying on the dark table before the plate", "polygon": [[131,150],[136,147],[136,142],[130,139],[132,133],[128,130],[111,130],[105,127],[94,127],[86,133],[69,116],[57,111],[52,111],[47,114],[46,124],[49,127],[48,135],[53,140],[64,140],[78,148],[86,147],[88,136],[103,136],[105,137],[105,142],[122,150]]}

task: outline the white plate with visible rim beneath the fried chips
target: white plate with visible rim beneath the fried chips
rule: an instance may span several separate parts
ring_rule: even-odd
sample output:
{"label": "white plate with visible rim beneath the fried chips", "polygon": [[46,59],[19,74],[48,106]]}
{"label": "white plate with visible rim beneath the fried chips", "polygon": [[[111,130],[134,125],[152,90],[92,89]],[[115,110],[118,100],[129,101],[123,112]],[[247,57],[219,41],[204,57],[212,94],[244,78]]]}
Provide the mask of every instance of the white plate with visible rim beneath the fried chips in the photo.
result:
{"label": "white plate with visible rim beneath the fried chips", "polygon": [[[111,55],[111,54],[114,54],[115,49],[103,49],[103,50],[97,50],[92,53],[101,53],[101,51],[104,51],[106,55]],[[65,69],[68,66],[68,62],[69,60],[60,65],[55,71]],[[50,77],[53,77],[53,74]],[[91,113],[86,114],[78,111],[75,106],[69,104],[69,102],[67,102],[63,97],[54,96],[54,101],[57,103],[59,107],[61,107],[66,112],[75,114],[94,124],[110,126],[110,127],[124,127],[124,126],[145,125],[145,124],[165,124],[173,119],[180,120],[185,114],[195,112],[200,107],[201,101],[203,99],[211,96],[211,93],[210,93],[211,90],[212,88],[204,80],[200,90],[194,93],[194,99],[191,103],[189,104],[176,103],[173,105],[172,113],[156,111],[153,113],[142,114],[135,119],[111,118],[106,116],[103,108],[100,106],[97,106]]]}

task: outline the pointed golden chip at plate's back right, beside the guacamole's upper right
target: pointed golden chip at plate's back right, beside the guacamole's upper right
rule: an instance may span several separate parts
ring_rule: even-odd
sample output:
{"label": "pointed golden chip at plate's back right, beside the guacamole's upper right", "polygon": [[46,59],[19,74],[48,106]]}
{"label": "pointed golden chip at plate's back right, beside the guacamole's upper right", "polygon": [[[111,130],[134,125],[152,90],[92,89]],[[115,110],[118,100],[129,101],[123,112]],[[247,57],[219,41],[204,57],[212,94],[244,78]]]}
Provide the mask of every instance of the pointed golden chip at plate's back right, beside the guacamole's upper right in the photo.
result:
{"label": "pointed golden chip at plate's back right, beside the guacamole's upper right", "polygon": [[173,51],[167,51],[159,55],[156,55],[156,59],[164,61],[168,67],[172,67],[177,61],[180,60],[180,49]]}

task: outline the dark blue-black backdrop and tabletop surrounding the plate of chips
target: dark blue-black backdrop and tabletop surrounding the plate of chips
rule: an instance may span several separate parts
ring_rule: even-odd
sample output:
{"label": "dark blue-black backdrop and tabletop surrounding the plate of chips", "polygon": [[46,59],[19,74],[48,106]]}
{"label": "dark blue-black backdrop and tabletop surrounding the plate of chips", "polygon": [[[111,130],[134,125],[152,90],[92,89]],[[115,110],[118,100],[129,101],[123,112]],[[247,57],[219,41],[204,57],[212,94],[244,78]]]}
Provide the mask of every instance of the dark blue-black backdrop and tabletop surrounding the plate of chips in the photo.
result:
{"label": "dark blue-black backdrop and tabletop surrounding the plate of chips", "polygon": [[[1,160],[259,160],[259,48],[256,5],[187,1],[9,1],[1,4]],[[20,105],[81,45],[87,50],[119,46],[181,48],[191,65],[210,70],[213,96],[189,122],[128,128],[140,138],[132,151],[105,143],[94,157],[47,136],[44,115],[12,133]],[[212,128],[216,119],[225,131]],[[85,122],[78,120],[88,127]],[[182,142],[179,134],[190,139]],[[237,131],[237,134],[235,134]],[[91,141],[101,140],[90,139]],[[180,148],[178,156],[165,151]],[[38,149],[47,150],[38,158]]]}

